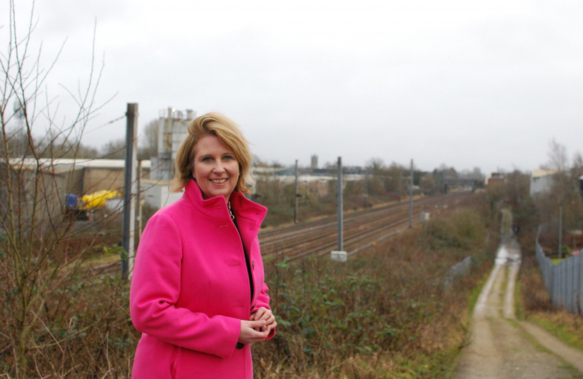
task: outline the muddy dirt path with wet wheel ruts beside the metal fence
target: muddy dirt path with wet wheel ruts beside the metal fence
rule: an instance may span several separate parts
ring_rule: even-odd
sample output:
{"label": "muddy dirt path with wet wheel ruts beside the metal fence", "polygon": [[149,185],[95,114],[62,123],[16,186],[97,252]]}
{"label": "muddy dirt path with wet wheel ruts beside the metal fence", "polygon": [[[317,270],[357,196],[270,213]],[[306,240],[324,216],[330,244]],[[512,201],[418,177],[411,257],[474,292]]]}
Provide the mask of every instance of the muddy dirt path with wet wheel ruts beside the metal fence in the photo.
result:
{"label": "muddy dirt path with wet wheel ruts beside the metal fence", "polygon": [[471,338],[454,378],[583,378],[583,352],[537,326],[516,321],[513,293],[520,248],[505,232],[496,265],[474,308]]}

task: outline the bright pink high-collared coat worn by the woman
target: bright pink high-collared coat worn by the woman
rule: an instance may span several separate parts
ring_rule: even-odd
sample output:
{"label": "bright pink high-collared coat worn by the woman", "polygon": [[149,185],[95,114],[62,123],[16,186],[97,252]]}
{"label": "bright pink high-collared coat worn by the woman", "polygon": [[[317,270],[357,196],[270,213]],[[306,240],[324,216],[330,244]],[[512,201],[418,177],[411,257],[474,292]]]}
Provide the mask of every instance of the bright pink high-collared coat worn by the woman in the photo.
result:
{"label": "bright pink high-collared coat worn by the woman", "polygon": [[269,309],[257,239],[267,209],[233,195],[240,234],[225,198],[202,199],[194,180],[148,221],[131,279],[131,321],[142,332],[133,379],[253,378],[251,348],[235,345],[251,304]]}

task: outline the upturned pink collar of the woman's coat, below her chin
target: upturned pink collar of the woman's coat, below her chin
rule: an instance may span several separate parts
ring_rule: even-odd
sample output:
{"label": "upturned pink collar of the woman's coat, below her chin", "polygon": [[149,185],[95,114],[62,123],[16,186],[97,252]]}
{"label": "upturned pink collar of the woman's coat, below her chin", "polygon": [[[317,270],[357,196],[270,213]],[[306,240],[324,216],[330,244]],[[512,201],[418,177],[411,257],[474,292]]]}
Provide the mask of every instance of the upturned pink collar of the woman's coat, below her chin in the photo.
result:
{"label": "upturned pink collar of the woman's coat, below her chin", "polygon": [[[227,201],[225,197],[216,196],[211,199],[202,199],[202,192],[195,180],[190,180],[184,188],[183,198],[194,206],[197,211],[214,218],[230,219]],[[230,197],[231,209],[236,218],[246,218],[256,222],[258,228],[266,217],[267,208],[247,199],[239,191],[235,191]]]}

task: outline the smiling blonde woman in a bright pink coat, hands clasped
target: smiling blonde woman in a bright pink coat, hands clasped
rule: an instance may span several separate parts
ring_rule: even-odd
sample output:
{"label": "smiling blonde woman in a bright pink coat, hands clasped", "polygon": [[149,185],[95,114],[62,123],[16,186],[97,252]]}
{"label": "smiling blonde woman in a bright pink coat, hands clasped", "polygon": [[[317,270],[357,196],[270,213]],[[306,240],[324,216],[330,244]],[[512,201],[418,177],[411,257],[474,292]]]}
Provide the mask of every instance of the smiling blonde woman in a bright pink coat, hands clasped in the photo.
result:
{"label": "smiling blonde woman in a bright pink coat, hands clasped", "polygon": [[244,197],[251,152],[222,114],[188,123],[176,203],[150,218],[130,291],[142,338],[133,379],[253,378],[251,348],[273,337],[257,232],[267,209]]}

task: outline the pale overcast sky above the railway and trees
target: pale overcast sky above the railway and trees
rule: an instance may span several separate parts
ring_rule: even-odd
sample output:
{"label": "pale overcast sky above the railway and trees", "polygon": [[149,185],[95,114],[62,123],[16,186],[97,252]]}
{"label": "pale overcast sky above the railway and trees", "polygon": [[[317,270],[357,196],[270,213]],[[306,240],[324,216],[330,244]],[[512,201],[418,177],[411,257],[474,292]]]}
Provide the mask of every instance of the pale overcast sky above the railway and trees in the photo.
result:
{"label": "pale overcast sky above the railway and trees", "polygon": [[[169,106],[223,112],[282,164],[530,171],[552,138],[583,150],[581,1],[282,3],[37,0],[34,41],[46,64],[66,39],[48,91],[68,117],[55,84],[86,83],[96,23],[98,102],[115,95],[88,126],[96,147],[125,121],[91,130],[137,102],[140,130]],[[24,26],[30,2],[16,11]]]}

